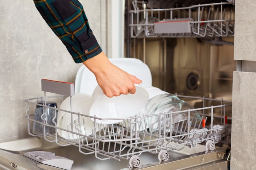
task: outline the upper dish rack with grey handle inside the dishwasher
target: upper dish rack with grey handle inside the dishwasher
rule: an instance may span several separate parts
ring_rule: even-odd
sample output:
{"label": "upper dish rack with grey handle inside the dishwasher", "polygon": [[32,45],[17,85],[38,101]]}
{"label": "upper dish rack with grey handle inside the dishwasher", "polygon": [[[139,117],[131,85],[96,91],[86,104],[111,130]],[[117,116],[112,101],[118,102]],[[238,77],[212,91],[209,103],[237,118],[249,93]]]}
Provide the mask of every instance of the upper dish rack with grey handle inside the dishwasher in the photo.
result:
{"label": "upper dish rack with grey handle inside the dishwasher", "polygon": [[148,9],[132,1],[132,38],[204,38],[234,36],[234,4],[220,2],[182,8]]}

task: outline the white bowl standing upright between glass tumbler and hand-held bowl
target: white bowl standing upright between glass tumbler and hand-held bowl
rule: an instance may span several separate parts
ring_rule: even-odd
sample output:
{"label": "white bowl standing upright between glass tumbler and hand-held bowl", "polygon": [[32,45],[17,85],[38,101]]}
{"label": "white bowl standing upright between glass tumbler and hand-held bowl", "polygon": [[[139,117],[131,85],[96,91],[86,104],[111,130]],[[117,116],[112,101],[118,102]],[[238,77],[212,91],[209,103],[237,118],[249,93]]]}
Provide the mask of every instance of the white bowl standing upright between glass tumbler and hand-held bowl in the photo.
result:
{"label": "white bowl standing upright between glass tumbler and hand-held bowl", "polygon": [[[89,115],[90,110],[90,100],[91,97],[86,94],[77,93],[72,97],[72,112],[80,113],[82,115]],[[60,105],[60,109],[71,111],[70,109],[70,97],[66,98],[62,104]],[[78,132],[75,126],[78,124],[78,115],[72,114],[73,122],[71,122],[71,113],[65,111],[59,111],[57,117],[57,127],[64,128],[66,130],[71,130],[71,123],[73,124],[73,131]],[[80,126],[78,129],[80,130],[79,133],[84,135],[92,134],[92,128],[94,127],[94,123],[92,120],[85,116],[80,116]],[[96,128],[98,131],[98,128]],[[60,136],[66,139],[76,139],[78,135],[66,132],[64,130],[57,129],[57,132]]]}

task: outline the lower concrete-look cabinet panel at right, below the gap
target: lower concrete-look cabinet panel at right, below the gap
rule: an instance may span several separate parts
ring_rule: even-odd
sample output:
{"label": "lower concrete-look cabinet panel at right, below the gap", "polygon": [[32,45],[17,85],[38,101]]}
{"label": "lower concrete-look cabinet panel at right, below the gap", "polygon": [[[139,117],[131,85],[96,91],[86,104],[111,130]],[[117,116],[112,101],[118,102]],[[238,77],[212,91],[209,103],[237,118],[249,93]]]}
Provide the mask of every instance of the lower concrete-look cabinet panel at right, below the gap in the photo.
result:
{"label": "lower concrete-look cabinet panel at right, below the gap", "polygon": [[256,169],[256,73],[234,72],[231,169]]}

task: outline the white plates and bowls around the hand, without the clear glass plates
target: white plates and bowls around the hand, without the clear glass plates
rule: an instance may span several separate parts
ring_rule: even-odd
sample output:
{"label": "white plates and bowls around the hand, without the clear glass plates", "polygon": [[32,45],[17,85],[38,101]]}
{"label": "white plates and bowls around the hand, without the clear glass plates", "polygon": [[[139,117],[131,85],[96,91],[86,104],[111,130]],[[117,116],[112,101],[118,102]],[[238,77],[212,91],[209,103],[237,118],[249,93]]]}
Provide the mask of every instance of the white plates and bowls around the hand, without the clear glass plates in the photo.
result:
{"label": "white plates and bowls around the hand, without the clear glass plates", "polygon": [[[72,111],[81,113],[85,116],[81,116],[84,119],[80,119],[79,133],[90,135],[92,134],[92,128],[94,127],[94,119],[90,119],[90,116],[96,116],[101,119],[96,119],[96,123],[102,124],[113,124],[118,123],[122,120],[117,118],[127,118],[135,115],[140,115],[140,111],[145,107],[148,102],[149,94],[150,97],[156,95],[156,91],[161,94],[166,93],[158,88],[152,87],[152,76],[148,66],[134,58],[114,58],[110,59],[114,65],[127,73],[136,76],[142,80],[141,85],[136,85],[136,93],[134,95],[120,95],[118,97],[108,98],[104,96],[100,87],[97,87],[98,83],[94,74],[87,69],[84,65],[80,67],[76,75],[75,82],[75,93],[72,97]],[[60,109],[70,111],[70,98],[67,98],[61,105]],[[87,115],[87,117],[86,117]],[[60,111],[58,113],[57,127],[64,128],[71,131],[71,125],[73,124],[73,131],[78,132],[76,129],[78,123],[78,116],[73,114],[73,123],[71,122],[71,114]],[[76,122],[76,124],[74,123]],[[97,129],[99,130],[99,129]],[[64,138],[76,139],[77,135],[65,132],[64,130],[58,129],[58,134]]]}

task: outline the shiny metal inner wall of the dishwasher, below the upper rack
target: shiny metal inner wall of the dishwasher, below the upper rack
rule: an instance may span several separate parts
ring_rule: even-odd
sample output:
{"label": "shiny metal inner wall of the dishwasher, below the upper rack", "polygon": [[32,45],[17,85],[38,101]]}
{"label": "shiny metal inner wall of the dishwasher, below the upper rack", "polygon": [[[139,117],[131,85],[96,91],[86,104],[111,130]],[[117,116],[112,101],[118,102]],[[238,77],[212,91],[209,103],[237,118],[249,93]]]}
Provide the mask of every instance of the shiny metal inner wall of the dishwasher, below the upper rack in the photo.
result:
{"label": "shiny metal inner wall of the dishwasher, below the upper rack", "polygon": [[[234,42],[233,37],[222,40]],[[213,45],[200,38],[137,38],[131,42],[131,57],[148,65],[153,86],[169,93],[232,100],[234,46]],[[227,112],[230,116],[231,110]]]}

